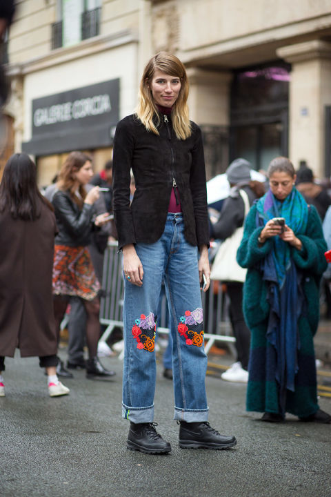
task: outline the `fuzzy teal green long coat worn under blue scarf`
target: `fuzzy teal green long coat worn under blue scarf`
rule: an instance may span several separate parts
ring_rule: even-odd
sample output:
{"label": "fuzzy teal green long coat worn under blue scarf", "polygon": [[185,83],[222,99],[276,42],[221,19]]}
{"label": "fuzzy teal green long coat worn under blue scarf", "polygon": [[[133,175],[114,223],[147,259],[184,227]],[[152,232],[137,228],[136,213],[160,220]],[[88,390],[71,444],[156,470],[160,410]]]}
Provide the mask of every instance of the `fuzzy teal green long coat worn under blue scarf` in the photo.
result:
{"label": "fuzzy teal green long coat worn under blue scarf", "polygon": [[[257,227],[257,207],[253,205],[245,221],[243,240],[237,252],[237,261],[248,268],[243,289],[243,313],[250,328],[249,380],[247,410],[279,413],[278,386],[274,380],[274,364],[270,354],[271,344],[266,339],[270,306],[267,302],[268,282],[262,279],[258,263],[272,251],[272,238],[263,245],[258,242],[262,227]],[[303,273],[302,290],[305,296],[303,313],[298,320],[300,349],[299,371],[295,378],[294,392],[287,391],[286,411],[300,418],[310,416],[319,409],[317,405],[317,379],[313,337],[319,323],[319,282],[327,266],[327,250],[319,215],[310,206],[304,234],[296,234],[302,242],[298,251],[291,247],[292,262]]]}

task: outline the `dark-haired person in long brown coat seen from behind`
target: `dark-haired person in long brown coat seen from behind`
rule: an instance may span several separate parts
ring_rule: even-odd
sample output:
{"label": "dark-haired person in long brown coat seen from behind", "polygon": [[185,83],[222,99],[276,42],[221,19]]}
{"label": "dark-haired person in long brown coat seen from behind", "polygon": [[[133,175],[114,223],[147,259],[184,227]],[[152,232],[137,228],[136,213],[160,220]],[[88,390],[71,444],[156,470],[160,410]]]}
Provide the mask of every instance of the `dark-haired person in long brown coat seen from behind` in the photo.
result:
{"label": "dark-haired person in long brown coat seen from behind", "polygon": [[0,184],[0,396],[5,356],[39,356],[51,397],[66,395],[59,382],[52,266],[57,224],[39,193],[36,166],[26,154],[8,160]]}

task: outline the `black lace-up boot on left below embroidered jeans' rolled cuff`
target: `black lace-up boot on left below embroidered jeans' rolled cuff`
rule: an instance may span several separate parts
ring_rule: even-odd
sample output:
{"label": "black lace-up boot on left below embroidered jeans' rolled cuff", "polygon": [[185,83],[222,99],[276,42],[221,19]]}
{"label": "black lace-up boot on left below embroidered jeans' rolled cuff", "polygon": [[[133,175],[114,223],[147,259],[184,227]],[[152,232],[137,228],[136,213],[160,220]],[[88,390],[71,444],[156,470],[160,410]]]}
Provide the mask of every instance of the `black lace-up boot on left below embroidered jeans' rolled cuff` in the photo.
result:
{"label": "black lace-up boot on left below embroidered jeans' rolled cuff", "polygon": [[169,442],[165,442],[161,435],[157,433],[155,427],[157,423],[132,423],[126,447],[130,450],[137,450],[145,454],[163,454],[170,452]]}

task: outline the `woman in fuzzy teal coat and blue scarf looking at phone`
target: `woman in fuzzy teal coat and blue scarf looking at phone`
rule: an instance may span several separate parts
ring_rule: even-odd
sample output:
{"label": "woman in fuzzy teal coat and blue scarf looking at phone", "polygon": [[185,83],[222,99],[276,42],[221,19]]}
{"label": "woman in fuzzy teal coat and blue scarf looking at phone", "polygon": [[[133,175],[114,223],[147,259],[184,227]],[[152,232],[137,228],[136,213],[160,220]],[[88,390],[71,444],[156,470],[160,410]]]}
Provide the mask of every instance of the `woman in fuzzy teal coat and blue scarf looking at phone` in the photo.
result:
{"label": "woman in fuzzy teal coat and blue scarf looking at phone", "polygon": [[[243,311],[252,333],[247,410],[280,422],[285,412],[329,423],[317,404],[314,333],[326,268],[319,215],[294,187],[294,167],[277,157],[270,190],[250,209],[237,261],[248,268]],[[284,228],[275,217],[285,218]],[[281,222],[281,221],[280,221]]]}

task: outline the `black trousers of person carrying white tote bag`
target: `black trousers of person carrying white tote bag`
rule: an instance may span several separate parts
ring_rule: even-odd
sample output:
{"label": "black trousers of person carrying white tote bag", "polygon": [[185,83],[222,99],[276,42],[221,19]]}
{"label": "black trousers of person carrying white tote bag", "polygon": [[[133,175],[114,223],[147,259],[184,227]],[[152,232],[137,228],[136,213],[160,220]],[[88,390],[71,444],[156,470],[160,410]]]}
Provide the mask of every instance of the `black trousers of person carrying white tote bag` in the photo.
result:
{"label": "black trousers of person carrying white tote bag", "polygon": [[227,282],[228,297],[230,299],[230,321],[234,338],[236,339],[237,360],[243,369],[248,369],[250,358],[250,330],[243,318],[243,283]]}

